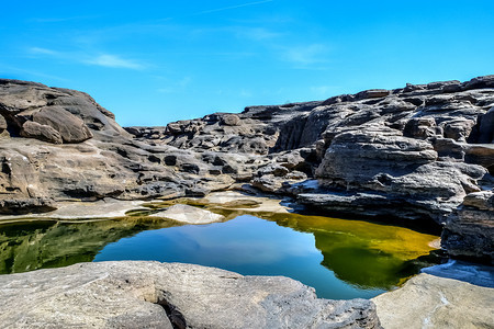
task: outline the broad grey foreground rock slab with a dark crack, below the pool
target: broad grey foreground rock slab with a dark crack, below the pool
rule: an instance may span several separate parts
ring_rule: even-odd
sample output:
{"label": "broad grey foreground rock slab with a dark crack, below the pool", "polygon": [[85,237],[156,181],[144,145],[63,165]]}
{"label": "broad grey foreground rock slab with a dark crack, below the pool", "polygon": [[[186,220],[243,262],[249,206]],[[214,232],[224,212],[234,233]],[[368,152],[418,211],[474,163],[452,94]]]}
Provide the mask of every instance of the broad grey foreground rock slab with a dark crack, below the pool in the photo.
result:
{"label": "broad grey foreground rock slab with a dark crack, below the pool", "polygon": [[1,275],[0,287],[8,328],[381,328],[369,300],[190,264],[82,263]]}

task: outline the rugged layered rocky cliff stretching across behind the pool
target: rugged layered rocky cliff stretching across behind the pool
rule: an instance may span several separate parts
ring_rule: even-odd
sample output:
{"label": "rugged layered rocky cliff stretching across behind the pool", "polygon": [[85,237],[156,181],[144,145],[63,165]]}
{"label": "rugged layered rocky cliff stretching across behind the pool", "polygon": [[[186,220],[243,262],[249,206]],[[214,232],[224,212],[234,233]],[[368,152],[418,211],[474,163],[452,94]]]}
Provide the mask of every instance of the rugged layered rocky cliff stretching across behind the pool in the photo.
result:
{"label": "rugged layered rocky cliff stretching across behind the pool", "polygon": [[250,184],[329,214],[428,219],[493,259],[494,76],[122,129],[89,95],[0,80],[0,212]]}

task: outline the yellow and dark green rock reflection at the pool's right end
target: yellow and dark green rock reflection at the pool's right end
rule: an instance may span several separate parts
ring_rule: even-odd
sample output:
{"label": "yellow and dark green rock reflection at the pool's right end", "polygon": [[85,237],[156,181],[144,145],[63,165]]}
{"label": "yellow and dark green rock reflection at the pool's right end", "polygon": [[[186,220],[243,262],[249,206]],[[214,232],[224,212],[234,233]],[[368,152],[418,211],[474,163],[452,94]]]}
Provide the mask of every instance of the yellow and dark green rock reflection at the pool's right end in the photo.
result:
{"label": "yellow and dark green rock reflection at the pool's right end", "polygon": [[312,232],[322,265],[362,288],[389,290],[437,259],[429,256],[435,236],[403,227],[296,214],[273,216],[279,225]]}

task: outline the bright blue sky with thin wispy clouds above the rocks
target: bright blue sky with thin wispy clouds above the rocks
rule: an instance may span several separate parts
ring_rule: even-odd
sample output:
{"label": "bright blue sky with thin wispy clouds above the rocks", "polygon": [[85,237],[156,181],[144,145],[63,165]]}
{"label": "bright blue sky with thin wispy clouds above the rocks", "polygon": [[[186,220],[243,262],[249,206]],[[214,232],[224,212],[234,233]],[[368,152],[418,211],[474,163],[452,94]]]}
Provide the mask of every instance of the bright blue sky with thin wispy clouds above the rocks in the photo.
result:
{"label": "bright blue sky with thin wispy clouds above the rocks", "polygon": [[494,1],[4,1],[0,77],[123,126],[494,73]]}

